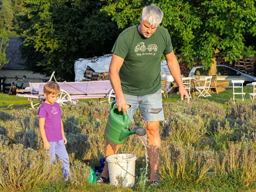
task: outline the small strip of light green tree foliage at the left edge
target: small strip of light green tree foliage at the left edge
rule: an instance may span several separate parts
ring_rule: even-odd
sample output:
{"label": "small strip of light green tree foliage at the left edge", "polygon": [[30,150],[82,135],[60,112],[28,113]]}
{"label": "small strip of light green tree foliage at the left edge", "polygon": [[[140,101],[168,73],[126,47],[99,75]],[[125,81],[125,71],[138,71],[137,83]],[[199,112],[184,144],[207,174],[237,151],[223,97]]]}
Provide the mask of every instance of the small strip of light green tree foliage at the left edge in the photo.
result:
{"label": "small strip of light green tree foliage at the left edge", "polygon": [[0,29],[0,69],[9,62],[6,59],[6,48],[9,46],[7,43],[9,41],[7,32],[5,29]]}

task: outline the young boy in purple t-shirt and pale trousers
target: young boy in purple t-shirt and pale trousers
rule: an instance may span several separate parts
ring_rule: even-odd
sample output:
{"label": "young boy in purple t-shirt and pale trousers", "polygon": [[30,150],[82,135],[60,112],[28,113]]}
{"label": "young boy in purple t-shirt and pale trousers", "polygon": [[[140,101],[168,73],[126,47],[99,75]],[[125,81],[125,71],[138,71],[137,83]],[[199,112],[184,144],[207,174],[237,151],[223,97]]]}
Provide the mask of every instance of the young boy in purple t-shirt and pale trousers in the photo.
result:
{"label": "young boy in purple t-shirt and pale trousers", "polygon": [[70,165],[65,144],[68,141],[60,117],[62,112],[59,104],[56,103],[59,90],[59,85],[56,82],[50,81],[45,84],[44,96],[46,100],[38,110],[39,130],[44,148],[51,154],[51,162],[55,161],[55,155],[63,161],[62,172],[65,181],[67,181],[70,177]]}

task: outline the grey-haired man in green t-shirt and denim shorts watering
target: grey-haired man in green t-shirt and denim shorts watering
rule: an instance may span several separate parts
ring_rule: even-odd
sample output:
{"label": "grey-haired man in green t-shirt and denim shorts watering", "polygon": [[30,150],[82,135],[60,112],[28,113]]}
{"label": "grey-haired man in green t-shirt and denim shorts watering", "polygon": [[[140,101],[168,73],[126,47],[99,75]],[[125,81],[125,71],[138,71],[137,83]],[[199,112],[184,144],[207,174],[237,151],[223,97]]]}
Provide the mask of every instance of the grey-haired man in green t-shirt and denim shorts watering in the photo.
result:
{"label": "grey-haired man in green t-shirt and denim shorts watering", "polygon": [[[117,38],[113,47],[109,77],[116,94],[116,106],[133,120],[133,115],[140,107],[144,127],[148,138],[148,157],[150,160],[152,185],[159,184],[158,164],[161,140],[159,122],[164,121],[161,95],[161,56],[164,54],[170,73],[179,86],[181,100],[184,96],[189,103],[179,63],[173,52],[169,33],[159,24],[163,12],[154,5],[144,7],[140,24],[125,29]],[[120,145],[106,139],[105,157],[114,155]],[[105,162],[98,183],[109,182],[108,162]]]}

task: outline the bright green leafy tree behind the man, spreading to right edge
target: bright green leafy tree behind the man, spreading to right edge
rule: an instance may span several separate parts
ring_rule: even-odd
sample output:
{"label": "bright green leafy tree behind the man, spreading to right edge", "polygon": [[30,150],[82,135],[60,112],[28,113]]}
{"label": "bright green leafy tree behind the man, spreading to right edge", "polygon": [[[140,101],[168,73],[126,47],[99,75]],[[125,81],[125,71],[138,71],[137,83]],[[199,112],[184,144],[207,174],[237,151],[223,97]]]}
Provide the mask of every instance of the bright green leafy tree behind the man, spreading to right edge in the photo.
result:
{"label": "bright green leafy tree behind the man, spreading to right edge", "polygon": [[197,58],[205,69],[211,67],[209,74],[215,74],[217,56],[231,63],[256,53],[249,41],[256,35],[255,0],[109,0],[101,11],[112,15],[119,28],[126,28],[138,24],[143,7],[151,3],[162,9],[161,26],[190,67]]}

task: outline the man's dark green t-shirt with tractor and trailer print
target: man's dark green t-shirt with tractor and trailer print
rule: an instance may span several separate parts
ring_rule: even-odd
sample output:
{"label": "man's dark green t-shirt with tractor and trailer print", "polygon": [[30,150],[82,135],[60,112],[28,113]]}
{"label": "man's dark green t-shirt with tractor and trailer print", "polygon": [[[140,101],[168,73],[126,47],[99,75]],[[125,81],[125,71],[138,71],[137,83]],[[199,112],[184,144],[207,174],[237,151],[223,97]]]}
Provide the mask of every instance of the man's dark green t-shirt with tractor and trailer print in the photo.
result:
{"label": "man's dark green t-shirt with tractor and trailer print", "polygon": [[125,29],[117,38],[112,52],[124,59],[119,71],[123,93],[148,95],[161,88],[161,57],[173,51],[168,31],[160,26],[143,37],[138,25]]}

